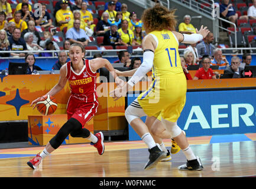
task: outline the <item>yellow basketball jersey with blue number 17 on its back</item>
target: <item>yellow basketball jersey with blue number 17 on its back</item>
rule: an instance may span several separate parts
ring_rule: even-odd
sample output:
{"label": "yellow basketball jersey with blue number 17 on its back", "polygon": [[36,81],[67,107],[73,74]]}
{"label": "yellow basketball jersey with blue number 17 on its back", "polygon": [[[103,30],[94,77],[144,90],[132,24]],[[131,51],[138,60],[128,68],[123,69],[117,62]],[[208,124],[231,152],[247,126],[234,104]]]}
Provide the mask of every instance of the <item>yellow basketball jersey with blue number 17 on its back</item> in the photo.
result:
{"label": "yellow basketball jersey with blue number 17 on its back", "polygon": [[157,41],[154,53],[152,76],[168,77],[183,73],[180,63],[179,43],[173,32],[168,30],[150,32]]}

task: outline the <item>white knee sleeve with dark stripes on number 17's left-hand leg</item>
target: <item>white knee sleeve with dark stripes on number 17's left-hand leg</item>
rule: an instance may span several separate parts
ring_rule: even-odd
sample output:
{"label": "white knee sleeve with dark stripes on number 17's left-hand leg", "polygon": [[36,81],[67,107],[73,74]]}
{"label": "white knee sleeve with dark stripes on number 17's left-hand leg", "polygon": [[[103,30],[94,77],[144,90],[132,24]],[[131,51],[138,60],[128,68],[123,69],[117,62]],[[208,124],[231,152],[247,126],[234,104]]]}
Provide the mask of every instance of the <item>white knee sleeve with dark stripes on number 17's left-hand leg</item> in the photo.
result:
{"label": "white knee sleeve with dark stripes on number 17's left-hand leg", "polygon": [[131,121],[136,118],[141,118],[143,116],[147,116],[138,103],[137,99],[134,100],[134,102],[131,103],[125,110],[125,118],[127,119],[127,122],[131,124]]}

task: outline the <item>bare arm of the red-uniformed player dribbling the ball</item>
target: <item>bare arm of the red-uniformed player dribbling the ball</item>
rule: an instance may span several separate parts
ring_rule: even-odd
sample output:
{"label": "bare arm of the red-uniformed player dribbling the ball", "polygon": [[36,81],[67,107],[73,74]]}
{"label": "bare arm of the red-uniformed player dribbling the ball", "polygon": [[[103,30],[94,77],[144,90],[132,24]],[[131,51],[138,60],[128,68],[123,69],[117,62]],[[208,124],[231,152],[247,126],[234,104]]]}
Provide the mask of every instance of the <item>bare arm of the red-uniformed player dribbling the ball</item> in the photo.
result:
{"label": "bare arm of the red-uniformed player dribbling the ball", "polygon": [[[64,86],[67,83],[66,73],[67,73],[66,64],[64,64],[60,68],[60,79],[59,79],[59,82],[48,93],[46,93],[46,95],[49,94],[51,96],[54,96],[55,94],[60,92],[61,89],[64,88]],[[39,99],[39,97],[37,99],[33,100],[33,102],[31,103],[30,106],[34,105],[33,109],[35,108],[35,105],[37,104],[38,99]]]}

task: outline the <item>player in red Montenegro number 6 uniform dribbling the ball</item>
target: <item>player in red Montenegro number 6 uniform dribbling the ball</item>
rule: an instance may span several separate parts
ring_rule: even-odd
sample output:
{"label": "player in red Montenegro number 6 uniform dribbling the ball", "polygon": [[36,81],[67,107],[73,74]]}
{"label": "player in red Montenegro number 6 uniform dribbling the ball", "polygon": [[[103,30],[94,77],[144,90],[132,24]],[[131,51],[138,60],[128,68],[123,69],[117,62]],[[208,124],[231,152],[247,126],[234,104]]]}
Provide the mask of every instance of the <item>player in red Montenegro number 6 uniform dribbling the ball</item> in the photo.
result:
{"label": "player in red Montenegro number 6 uniform dribbling the ball", "polygon": [[[83,128],[97,112],[99,102],[96,95],[96,71],[101,67],[106,67],[110,73],[114,74],[115,82],[122,85],[123,81],[114,72],[114,67],[104,58],[86,60],[85,49],[80,44],[72,44],[69,48],[70,61],[60,68],[59,82],[47,94],[54,96],[66,85],[69,80],[71,95],[67,102],[67,122],[60,128],[57,134],[48,142],[43,152],[38,153],[27,164],[35,169],[43,158],[57,149],[64,139],[70,134],[72,137],[82,137],[89,139],[91,145],[98,149],[99,155],[104,152],[103,133],[93,135],[86,128]],[[31,103],[36,105],[38,99]]]}

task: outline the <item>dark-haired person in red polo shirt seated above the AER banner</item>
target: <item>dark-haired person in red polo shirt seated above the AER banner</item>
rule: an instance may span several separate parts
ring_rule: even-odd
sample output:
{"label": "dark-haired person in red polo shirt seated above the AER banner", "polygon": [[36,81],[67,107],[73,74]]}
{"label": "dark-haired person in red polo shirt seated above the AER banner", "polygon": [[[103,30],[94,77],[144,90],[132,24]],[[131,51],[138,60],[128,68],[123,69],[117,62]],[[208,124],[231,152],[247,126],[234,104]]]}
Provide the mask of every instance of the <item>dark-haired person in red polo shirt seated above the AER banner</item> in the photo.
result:
{"label": "dark-haired person in red polo shirt seated above the AER banner", "polygon": [[202,65],[200,69],[196,71],[196,74],[193,78],[193,80],[198,79],[217,79],[215,74],[213,73],[212,69],[210,69],[210,58],[209,57],[203,57],[202,59]]}

